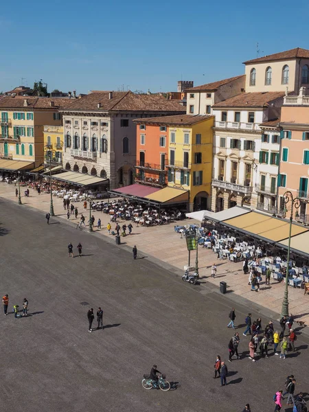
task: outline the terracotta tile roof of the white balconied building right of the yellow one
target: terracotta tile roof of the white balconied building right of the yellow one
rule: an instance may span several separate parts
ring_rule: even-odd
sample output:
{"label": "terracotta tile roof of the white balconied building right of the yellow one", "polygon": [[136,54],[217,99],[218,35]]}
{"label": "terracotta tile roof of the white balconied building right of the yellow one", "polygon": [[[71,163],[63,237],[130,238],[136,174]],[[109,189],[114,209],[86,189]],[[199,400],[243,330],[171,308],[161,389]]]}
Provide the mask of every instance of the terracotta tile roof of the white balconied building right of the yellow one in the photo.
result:
{"label": "terracotta tile roof of the white balconied building right of the yellow one", "polygon": [[259,92],[259,93],[241,93],[239,95],[234,96],[233,98],[229,98],[224,100],[223,102],[219,102],[213,104],[213,108],[217,107],[264,107],[268,106],[270,102],[282,98],[283,104],[283,97],[284,92],[282,91],[266,91],[266,92]]}

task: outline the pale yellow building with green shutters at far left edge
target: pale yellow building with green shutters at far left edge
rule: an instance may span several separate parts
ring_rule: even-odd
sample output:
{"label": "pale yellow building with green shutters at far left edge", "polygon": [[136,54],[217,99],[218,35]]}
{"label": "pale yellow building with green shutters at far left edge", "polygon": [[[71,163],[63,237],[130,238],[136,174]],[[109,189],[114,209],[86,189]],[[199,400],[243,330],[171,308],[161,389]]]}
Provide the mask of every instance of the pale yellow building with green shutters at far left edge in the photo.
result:
{"label": "pale yellow building with green shutters at far left edge", "polygon": [[[32,168],[44,162],[44,125],[60,126],[58,109],[67,106],[67,99],[10,96],[0,100],[0,159],[23,161],[21,168]],[[23,167],[26,165],[27,167]],[[8,163],[9,165],[9,163]],[[18,165],[18,163],[17,163]],[[29,167],[28,167],[29,166]],[[1,161],[1,168],[5,161]],[[14,170],[19,167],[14,164]]]}

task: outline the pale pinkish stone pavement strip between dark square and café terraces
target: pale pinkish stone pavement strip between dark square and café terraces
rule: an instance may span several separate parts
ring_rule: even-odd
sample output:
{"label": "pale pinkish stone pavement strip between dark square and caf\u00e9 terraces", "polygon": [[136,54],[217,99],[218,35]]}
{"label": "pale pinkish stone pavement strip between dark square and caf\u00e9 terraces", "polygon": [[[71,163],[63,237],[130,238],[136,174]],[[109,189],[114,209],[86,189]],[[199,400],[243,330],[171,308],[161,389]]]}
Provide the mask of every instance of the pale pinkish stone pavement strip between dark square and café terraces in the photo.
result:
{"label": "pale pinkish stone pavement strip between dark square and caf\u00e9 terraces", "polygon": [[[21,188],[21,193],[24,189]],[[8,185],[8,183],[0,183],[0,196],[8,198],[17,202],[15,196],[15,186]],[[30,189],[30,197],[21,198],[23,205],[34,207],[35,209],[43,212],[49,211],[50,195],[40,194],[38,195],[35,190]],[[53,197],[54,211],[57,218],[67,220],[67,211],[63,208],[62,198]],[[84,214],[86,221],[89,219],[89,209],[83,210],[81,202],[74,203],[78,207],[79,217],[80,214]],[[22,206],[21,206],[22,207]],[[89,205],[87,205],[89,207]],[[92,211],[95,217],[95,225],[100,217],[102,220],[102,229],[94,228],[95,233],[101,236],[108,236],[106,225],[110,222],[110,216],[100,211]],[[80,218],[75,218],[71,215],[69,222],[73,225],[77,225]],[[45,219],[45,216],[41,216]],[[50,222],[52,223],[53,218]],[[119,225],[129,221],[120,220]],[[183,266],[187,264],[188,253],[186,249],[185,239],[181,238],[179,233],[174,231],[174,225],[187,225],[188,223],[195,223],[196,220],[183,220],[179,222],[172,222],[169,225],[155,226],[155,227],[143,227],[133,224],[133,235],[121,238],[122,243],[128,247],[133,247],[135,244],[137,250],[145,255],[157,258],[167,264],[179,269],[179,274],[183,272]],[[199,222],[197,222],[199,223]],[[112,223],[112,229],[115,229],[115,223]],[[109,236],[113,239],[113,236]],[[191,264],[194,265],[195,252],[191,253]],[[217,264],[217,276],[213,279],[209,277],[210,268],[213,263]],[[198,249],[198,266],[201,277],[207,277],[207,282],[219,287],[221,281],[227,282],[228,290],[231,290],[233,294],[248,299],[259,306],[269,308],[278,314],[281,312],[282,299],[284,294],[283,282],[278,283],[275,280],[271,280],[271,286],[261,284],[260,292],[251,292],[251,286],[248,285],[248,275],[244,275],[242,272],[242,262],[232,263],[227,260],[218,260],[217,255],[210,249],[200,247]],[[309,295],[304,295],[304,290],[299,288],[288,288],[288,299],[290,311],[297,317],[297,320],[305,321],[309,325]]]}

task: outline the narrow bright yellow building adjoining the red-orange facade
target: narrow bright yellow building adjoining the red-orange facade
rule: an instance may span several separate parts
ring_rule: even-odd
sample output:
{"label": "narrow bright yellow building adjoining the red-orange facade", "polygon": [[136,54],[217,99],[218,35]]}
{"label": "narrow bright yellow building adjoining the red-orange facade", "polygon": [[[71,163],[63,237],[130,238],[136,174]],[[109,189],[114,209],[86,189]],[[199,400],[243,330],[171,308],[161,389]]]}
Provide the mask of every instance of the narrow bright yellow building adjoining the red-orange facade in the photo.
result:
{"label": "narrow bright yellow building adjoining the red-orange facade", "polygon": [[209,209],[214,116],[169,117],[168,186],[190,190],[190,211]]}

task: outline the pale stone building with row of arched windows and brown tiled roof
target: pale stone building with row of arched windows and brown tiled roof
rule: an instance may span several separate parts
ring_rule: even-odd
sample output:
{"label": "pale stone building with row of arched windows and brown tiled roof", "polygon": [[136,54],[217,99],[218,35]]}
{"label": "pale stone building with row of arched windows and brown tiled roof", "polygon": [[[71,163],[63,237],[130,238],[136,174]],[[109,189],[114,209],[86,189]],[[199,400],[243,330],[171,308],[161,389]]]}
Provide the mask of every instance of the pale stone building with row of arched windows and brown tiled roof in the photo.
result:
{"label": "pale stone building with row of arched windows and brown tiled roof", "polygon": [[183,106],[161,95],[93,91],[62,110],[64,168],[110,179],[111,189],[130,185],[136,163],[133,119],[183,113]]}

